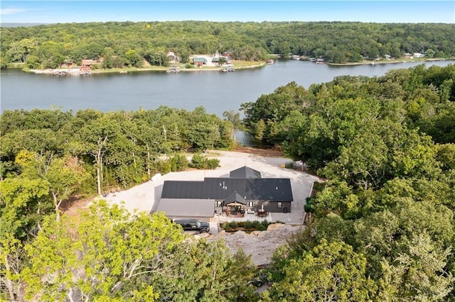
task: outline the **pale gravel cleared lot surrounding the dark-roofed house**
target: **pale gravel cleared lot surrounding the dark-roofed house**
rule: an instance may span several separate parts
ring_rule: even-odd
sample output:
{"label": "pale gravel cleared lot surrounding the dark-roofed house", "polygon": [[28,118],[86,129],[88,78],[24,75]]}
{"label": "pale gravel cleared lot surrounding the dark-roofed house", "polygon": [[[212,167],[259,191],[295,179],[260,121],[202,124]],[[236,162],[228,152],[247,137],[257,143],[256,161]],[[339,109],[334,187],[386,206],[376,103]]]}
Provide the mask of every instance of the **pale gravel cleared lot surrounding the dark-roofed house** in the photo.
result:
{"label": "pale gravel cleared lot surrounding the dark-roofed house", "polygon": [[[253,235],[239,231],[237,233],[218,233],[218,222],[210,223],[210,234],[208,240],[224,240],[230,247],[232,253],[240,248],[247,255],[252,256],[253,262],[257,265],[270,262],[272,253],[280,245],[284,245],[286,240],[299,228],[304,220],[304,204],[306,197],[310,196],[311,189],[317,177],[311,176],[294,169],[282,168],[282,164],[291,162],[284,157],[262,157],[248,153],[214,151],[214,157],[220,160],[220,167],[215,170],[195,170],[188,172],[173,172],[166,174],[154,181],[147,181],[144,184],[135,186],[127,191],[108,194],[106,199],[109,203],[124,203],[129,211],[155,211],[158,207],[159,198],[165,180],[200,180],[204,177],[228,177],[229,172],[239,167],[248,166],[261,172],[262,177],[287,177],[291,179],[292,203],[291,213],[269,213],[265,218],[269,221],[282,221],[287,225],[277,228],[277,230],[267,230]],[[219,222],[226,220],[224,217],[216,217]],[[240,218],[242,220],[259,220],[257,216]],[[231,219],[233,220],[233,219]],[[196,235],[198,236],[198,235]]]}

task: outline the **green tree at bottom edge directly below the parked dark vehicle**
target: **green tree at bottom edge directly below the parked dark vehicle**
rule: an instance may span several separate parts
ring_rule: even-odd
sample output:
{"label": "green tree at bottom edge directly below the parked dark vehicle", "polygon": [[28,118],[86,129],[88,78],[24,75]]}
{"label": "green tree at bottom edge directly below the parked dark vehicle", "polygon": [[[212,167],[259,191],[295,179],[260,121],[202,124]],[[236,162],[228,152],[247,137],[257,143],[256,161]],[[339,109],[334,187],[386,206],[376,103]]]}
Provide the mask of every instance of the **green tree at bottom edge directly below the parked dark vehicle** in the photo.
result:
{"label": "green tree at bottom edge directly below the parked dark vehicle", "polygon": [[198,240],[164,255],[151,279],[156,293],[171,301],[256,301],[248,284],[255,272],[251,256],[242,250],[232,257],[223,242]]}

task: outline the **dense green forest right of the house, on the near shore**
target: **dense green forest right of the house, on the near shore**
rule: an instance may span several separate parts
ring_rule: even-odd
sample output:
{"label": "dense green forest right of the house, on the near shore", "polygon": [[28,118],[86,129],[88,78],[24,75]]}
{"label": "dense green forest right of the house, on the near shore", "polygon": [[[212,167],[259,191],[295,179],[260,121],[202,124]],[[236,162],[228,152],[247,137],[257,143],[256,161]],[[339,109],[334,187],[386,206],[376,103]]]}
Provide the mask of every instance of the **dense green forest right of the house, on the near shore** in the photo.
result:
{"label": "dense green forest right of the house, on the near shore", "polygon": [[454,301],[455,65],[289,83],[242,107],[327,179],[274,256],[270,301]]}

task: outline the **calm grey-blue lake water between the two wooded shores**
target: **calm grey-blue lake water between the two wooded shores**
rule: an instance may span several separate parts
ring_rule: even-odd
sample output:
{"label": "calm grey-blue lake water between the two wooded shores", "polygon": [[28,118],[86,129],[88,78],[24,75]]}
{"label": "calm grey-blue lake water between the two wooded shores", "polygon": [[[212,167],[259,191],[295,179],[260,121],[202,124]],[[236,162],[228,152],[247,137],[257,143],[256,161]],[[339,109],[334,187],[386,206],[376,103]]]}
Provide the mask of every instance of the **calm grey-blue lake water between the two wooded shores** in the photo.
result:
{"label": "calm grey-blue lake water between the two wooded shores", "polygon": [[[454,61],[425,62],[427,66],[446,66]],[[224,111],[256,101],[278,86],[291,81],[308,88],[311,84],[330,82],[340,75],[381,76],[389,69],[409,68],[422,63],[356,65],[333,67],[295,60],[235,72],[195,71],[130,72],[127,74],[92,74],[91,76],[55,77],[31,74],[20,69],[1,69],[1,112],[33,108],[61,108],[77,111],[94,108],[100,111],[136,111],[161,105],[192,111],[203,106],[208,113],[222,116]]]}

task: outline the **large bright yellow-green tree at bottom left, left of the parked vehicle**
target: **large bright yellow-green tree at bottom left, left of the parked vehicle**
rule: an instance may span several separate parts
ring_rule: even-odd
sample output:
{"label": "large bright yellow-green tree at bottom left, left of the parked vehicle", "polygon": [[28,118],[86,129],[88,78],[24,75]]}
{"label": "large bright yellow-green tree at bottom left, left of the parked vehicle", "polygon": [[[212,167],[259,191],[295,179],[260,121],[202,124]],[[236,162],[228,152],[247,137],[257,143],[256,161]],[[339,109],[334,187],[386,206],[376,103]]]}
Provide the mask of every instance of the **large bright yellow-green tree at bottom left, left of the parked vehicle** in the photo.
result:
{"label": "large bright yellow-green tree at bottom left, left of the parked vehicle", "polygon": [[[61,300],[154,301],[146,274],[159,255],[183,239],[163,215],[130,216],[124,208],[100,201],[77,225],[63,216],[49,219],[36,240],[26,245],[30,266],[21,275],[27,298]],[[72,230],[72,231],[70,231]]]}

